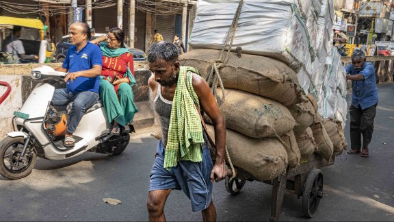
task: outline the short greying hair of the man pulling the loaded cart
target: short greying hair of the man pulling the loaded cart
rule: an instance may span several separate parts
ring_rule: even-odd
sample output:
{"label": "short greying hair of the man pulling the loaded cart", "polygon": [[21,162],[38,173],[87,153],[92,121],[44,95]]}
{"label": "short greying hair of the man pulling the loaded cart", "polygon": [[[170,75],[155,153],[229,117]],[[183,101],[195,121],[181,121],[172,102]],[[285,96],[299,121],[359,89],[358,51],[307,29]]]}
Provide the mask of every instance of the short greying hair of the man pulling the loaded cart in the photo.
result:
{"label": "short greying hair of the man pulling the loaded cart", "polygon": [[164,60],[166,62],[174,62],[178,60],[178,48],[172,42],[156,42],[150,47],[148,52],[148,62]]}

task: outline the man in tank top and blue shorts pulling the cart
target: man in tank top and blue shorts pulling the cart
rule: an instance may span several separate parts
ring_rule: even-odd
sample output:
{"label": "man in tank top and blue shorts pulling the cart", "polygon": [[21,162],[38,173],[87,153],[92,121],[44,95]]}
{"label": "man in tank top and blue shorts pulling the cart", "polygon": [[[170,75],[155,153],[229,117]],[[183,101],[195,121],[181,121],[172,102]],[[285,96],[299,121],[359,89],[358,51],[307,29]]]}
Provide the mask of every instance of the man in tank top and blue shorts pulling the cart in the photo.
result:
{"label": "man in tank top and blue shorts pulling the cart", "polygon": [[[155,97],[162,134],[150,171],[146,204],[149,221],[166,221],[164,206],[173,189],[183,190],[192,202],[192,210],[201,211],[204,221],[216,221],[213,180],[219,182],[226,176],[226,127],[218,103],[198,71],[179,64],[178,49],[172,42],[153,44],[148,62],[153,73],[148,84]],[[200,107],[215,129],[214,165],[198,114]]]}

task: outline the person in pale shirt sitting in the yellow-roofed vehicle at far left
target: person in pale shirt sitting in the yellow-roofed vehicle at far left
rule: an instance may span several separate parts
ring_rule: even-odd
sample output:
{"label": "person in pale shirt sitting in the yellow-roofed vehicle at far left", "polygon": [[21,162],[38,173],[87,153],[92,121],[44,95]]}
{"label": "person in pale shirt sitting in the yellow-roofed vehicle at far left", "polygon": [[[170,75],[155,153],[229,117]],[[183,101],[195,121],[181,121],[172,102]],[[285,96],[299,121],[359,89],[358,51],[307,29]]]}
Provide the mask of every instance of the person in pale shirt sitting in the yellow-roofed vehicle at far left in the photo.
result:
{"label": "person in pale shirt sitting in the yellow-roofed vehicle at far left", "polygon": [[3,42],[3,49],[1,51],[5,51],[10,54],[8,58],[8,62],[10,63],[20,63],[22,60],[38,60],[38,56],[29,56],[25,53],[25,47],[23,47],[23,43],[19,40],[21,37],[21,26],[14,25],[12,29],[12,34],[5,38]]}

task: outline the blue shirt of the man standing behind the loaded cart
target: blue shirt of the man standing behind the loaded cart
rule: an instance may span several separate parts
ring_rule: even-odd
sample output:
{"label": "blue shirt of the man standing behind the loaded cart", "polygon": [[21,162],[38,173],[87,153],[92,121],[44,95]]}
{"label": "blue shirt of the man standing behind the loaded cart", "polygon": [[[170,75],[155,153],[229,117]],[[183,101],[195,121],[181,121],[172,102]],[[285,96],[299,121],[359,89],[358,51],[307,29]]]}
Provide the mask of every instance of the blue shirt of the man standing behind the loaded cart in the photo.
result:
{"label": "blue shirt of the man standing behind the loaded cart", "polygon": [[346,73],[350,75],[362,74],[363,80],[352,80],[352,106],[362,110],[378,103],[378,87],[376,86],[375,67],[371,62],[364,62],[361,71],[355,71],[353,64],[345,67]]}

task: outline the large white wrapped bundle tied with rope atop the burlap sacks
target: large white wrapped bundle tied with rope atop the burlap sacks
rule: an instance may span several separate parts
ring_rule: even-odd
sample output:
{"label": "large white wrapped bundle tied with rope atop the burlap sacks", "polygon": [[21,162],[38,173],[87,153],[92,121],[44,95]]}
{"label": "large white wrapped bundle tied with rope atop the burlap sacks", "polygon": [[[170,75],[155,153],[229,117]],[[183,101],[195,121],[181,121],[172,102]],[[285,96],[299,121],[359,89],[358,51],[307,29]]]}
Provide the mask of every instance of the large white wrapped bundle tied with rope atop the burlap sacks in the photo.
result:
{"label": "large white wrapped bundle tied with rope atop the burlap sacks", "polygon": [[[190,46],[222,49],[238,3],[235,0],[198,1]],[[245,0],[233,49],[242,47],[243,53],[276,58],[295,71],[303,64],[310,64],[315,55],[297,5],[297,0]]]}

